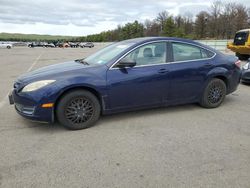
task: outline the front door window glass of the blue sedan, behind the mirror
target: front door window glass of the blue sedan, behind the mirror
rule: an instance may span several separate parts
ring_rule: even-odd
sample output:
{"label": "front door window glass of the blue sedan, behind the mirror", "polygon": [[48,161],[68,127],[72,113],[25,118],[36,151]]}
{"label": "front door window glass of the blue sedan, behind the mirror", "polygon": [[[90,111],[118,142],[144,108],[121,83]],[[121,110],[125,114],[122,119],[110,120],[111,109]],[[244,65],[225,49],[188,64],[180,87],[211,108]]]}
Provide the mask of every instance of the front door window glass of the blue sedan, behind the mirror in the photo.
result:
{"label": "front door window glass of the blue sedan, behind the mirror", "polygon": [[166,43],[147,44],[130,52],[124,59],[135,61],[136,66],[166,63]]}

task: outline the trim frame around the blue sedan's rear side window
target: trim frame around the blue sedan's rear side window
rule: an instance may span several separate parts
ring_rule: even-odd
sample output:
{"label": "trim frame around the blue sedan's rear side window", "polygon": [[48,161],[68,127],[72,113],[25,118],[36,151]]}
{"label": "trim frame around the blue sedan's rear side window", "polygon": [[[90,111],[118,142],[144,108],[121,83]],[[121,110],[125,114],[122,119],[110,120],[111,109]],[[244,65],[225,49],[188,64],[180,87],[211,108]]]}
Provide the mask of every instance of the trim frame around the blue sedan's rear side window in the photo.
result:
{"label": "trim frame around the blue sedan's rear side window", "polygon": [[[193,61],[202,61],[202,60],[209,60],[209,59],[213,59],[217,53],[208,49],[208,48],[205,48],[203,46],[200,46],[200,45],[197,45],[197,44],[191,44],[189,42],[182,42],[182,41],[174,41],[174,40],[170,40],[170,52],[171,52],[171,61],[169,63],[185,63],[185,62],[193,62]],[[187,44],[187,45],[190,45],[190,46],[195,46],[195,47],[198,47],[198,48],[202,48],[204,50],[207,50],[211,53],[213,53],[214,55],[212,57],[207,57],[207,58],[200,58],[200,59],[191,59],[191,60],[184,60],[184,61],[174,61],[174,51],[173,51],[173,43],[182,43],[182,44]]]}

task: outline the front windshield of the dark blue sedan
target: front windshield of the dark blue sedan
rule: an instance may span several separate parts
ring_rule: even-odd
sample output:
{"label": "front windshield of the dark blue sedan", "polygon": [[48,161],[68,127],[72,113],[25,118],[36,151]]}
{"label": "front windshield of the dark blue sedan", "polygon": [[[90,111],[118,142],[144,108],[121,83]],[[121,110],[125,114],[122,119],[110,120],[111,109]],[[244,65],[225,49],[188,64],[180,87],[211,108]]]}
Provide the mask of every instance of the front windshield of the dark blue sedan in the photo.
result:
{"label": "front windshield of the dark blue sedan", "polygon": [[117,42],[111,44],[96,53],[90,55],[89,57],[84,59],[84,62],[89,65],[101,65],[110,62],[114,57],[119,55],[122,51],[128,49],[135,43],[132,42]]}

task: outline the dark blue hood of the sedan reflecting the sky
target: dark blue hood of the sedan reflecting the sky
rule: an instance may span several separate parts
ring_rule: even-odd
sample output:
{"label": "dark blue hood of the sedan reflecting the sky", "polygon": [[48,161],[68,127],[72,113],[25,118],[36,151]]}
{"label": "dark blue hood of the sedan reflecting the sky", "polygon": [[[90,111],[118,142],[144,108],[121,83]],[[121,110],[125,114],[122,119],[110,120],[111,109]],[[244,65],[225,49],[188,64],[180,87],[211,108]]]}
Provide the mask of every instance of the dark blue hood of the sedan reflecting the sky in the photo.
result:
{"label": "dark blue hood of the sedan reflecting the sky", "polygon": [[17,78],[18,82],[31,82],[42,79],[56,79],[57,76],[66,76],[71,71],[93,68],[93,66],[84,65],[79,62],[69,61],[46,66],[28,73],[25,73]]}

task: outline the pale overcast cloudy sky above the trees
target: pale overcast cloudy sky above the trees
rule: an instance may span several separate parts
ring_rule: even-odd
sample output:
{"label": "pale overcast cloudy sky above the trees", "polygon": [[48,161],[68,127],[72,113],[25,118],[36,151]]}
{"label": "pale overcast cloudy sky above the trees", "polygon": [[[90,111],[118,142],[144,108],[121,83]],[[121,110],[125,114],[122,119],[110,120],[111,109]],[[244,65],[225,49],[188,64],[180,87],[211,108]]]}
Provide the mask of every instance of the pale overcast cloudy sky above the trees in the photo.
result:
{"label": "pale overcast cloudy sky above the trees", "polygon": [[[0,33],[84,36],[118,24],[208,10],[213,0],[0,0]],[[227,1],[228,2],[228,1]],[[250,0],[235,0],[250,7]]]}

